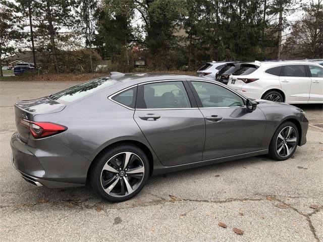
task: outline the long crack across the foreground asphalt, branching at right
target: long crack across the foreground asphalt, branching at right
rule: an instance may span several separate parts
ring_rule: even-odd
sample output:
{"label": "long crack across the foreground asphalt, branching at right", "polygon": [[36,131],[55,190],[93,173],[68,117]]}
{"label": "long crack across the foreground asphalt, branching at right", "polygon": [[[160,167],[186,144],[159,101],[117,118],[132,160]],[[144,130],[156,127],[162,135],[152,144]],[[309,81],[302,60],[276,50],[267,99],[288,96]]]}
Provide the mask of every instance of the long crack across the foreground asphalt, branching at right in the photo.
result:
{"label": "long crack across the foreground asphalt, branching at right", "polygon": [[[283,200],[277,198],[277,196],[273,196],[273,195],[266,195],[265,197],[262,198],[228,198],[225,200],[206,200],[206,199],[182,199],[179,197],[176,197],[175,195],[169,195],[170,199],[166,199],[164,197],[155,195],[155,194],[151,194],[148,193],[149,195],[156,197],[158,200],[153,200],[153,201],[148,201],[148,202],[137,202],[136,204],[130,204],[129,202],[125,202],[126,205],[129,206],[125,206],[125,207],[116,207],[116,208],[107,208],[106,206],[106,202],[101,200],[99,202],[96,202],[94,204],[84,204],[85,202],[88,202],[92,199],[92,197],[83,199],[83,200],[71,200],[71,199],[67,199],[67,200],[61,200],[61,201],[53,201],[53,202],[45,202],[45,203],[39,203],[39,202],[35,202],[35,203],[26,203],[26,204],[18,204],[18,205],[0,205],[0,209],[4,209],[4,208],[16,208],[16,209],[21,209],[23,207],[33,207],[36,205],[40,205],[40,204],[49,204],[50,206],[68,206],[71,209],[72,208],[77,208],[77,209],[97,209],[98,207],[100,207],[100,210],[102,210],[104,213],[107,213],[108,210],[111,209],[116,209],[116,210],[123,210],[123,209],[129,209],[129,208],[136,208],[136,207],[148,207],[148,206],[156,206],[156,205],[161,205],[161,204],[165,204],[165,203],[176,203],[176,202],[197,202],[197,203],[216,203],[216,204],[224,204],[224,203],[231,203],[231,202],[247,202],[247,201],[267,201],[267,202],[280,202],[286,206],[288,206],[289,208],[291,208],[292,210],[294,210],[296,213],[298,213],[299,215],[303,216],[309,226],[309,229],[311,231],[311,233],[313,234],[315,240],[317,242],[319,242],[319,238],[316,234],[316,230],[312,224],[311,221],[311,216],[313,214],[316,214],[317,212],[319,212],[322,209],[322,205],[320,205],[317,209],[315,209],[313,212],[311,213],[302,213],[300,212],[297,208],[295,208],[294,206],[292,206],[291,204],[288,204],[286,202],[284,202]],[[271,200],[268,200],[268,197],[271,197]],[[298,198],[298,197],[294,197],[294,198]],[[103,210],[103,208],[107,208],[105,210]]]}

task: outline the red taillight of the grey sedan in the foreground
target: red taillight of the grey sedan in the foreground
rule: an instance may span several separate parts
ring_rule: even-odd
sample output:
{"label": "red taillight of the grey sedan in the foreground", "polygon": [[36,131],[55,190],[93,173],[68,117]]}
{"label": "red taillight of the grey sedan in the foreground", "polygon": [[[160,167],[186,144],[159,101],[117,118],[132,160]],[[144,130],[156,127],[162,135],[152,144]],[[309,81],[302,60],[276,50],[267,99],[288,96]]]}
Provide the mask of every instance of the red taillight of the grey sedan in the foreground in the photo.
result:
{"label": "red taillight of the grey sedan in the foreground", "polygon": [[49,122],[33,122],[22,118],[20,119],[20,124],[29,129],[32,136],[36,139],[56,135],[67,130],[67,127],[62,125]]}

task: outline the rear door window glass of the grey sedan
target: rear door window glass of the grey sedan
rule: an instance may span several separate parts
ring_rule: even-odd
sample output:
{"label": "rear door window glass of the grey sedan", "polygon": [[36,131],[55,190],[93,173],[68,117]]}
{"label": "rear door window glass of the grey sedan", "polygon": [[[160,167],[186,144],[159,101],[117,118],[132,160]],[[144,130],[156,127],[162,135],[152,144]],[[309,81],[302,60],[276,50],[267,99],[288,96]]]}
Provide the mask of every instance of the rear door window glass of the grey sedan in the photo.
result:
{"label": "rear door window glass of the grey sedan", "polygon": [[189,108],[188,95],[181,81],[157,82],[143,85],[146,108]]}

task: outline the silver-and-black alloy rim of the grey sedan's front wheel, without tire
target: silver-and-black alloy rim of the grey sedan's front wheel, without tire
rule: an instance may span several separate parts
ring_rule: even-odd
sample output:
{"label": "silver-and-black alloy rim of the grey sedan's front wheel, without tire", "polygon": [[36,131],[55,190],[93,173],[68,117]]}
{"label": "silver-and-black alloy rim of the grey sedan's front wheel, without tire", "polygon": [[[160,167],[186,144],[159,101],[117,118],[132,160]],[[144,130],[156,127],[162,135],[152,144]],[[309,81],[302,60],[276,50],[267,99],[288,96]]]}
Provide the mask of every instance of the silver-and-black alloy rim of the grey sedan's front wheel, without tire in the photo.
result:
{"label": "silver-and-black alloy rim of the grey sedan's front wheel, without tire", "polygon": [[279,133],[276,140],[276,151],[281,157],[289,156],[295,149],[297,134],[293,127],[287,126]]}

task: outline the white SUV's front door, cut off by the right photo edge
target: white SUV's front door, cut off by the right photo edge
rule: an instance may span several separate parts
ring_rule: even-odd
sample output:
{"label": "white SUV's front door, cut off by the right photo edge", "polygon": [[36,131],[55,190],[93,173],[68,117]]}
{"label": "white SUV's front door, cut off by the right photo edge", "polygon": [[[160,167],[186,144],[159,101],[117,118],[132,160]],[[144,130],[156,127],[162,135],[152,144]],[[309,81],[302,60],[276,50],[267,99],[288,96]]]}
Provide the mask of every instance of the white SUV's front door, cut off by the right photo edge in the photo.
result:
{"label": "white SUV's front door, cut off by the right photo edge", "polygon": [[308,66],[311,76],[311,89],[308,103],[323,103],[323,68]]}

